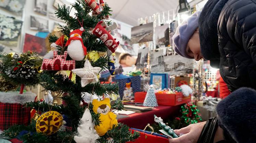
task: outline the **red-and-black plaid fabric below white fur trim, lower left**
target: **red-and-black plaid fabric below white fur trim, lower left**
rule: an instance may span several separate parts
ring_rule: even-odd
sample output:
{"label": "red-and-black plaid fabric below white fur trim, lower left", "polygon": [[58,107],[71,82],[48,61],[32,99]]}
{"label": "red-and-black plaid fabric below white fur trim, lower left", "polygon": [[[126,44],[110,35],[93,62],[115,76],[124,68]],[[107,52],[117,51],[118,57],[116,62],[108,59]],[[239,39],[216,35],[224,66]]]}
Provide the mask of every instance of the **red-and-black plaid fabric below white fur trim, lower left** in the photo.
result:
{"label": "red-and-black plaid fabric below white fur trim, lower left", "polygon": [[0,102],[0,129],[7,130],[12,125],[28,125],[30,123],[31,108],[19,103]]}

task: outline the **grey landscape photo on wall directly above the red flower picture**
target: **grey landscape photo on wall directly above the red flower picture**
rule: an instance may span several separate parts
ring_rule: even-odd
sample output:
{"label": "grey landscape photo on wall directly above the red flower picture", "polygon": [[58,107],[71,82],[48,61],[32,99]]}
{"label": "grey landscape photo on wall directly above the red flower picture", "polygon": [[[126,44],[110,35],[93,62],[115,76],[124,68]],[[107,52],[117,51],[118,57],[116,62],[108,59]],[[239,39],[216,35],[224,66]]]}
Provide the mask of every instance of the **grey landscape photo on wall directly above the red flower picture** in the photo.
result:
{"label": "grey landscape photo on wall directly above the red flower picture", "polygon": [[48,20],[31,16],[30,29],[41,32],[48,32]]}

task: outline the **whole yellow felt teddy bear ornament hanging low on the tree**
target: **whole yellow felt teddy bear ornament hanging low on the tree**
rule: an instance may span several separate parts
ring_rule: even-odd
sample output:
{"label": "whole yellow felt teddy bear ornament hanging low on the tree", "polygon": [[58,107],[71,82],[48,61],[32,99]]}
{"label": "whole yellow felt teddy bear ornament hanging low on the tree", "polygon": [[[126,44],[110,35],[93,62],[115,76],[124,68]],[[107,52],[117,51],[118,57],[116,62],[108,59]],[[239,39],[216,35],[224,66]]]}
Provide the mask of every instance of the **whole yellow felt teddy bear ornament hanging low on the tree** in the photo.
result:
{"label": "whole yellow felt teddy bear ornament hanging low on the tree", "polygon": [[98,101],[97,99],[93,100],[93,111],[95,113],[100,113],[99,120],[101,121],[99,126],[95,126],[97,133],[102,136],[108,130],[113,128],[113,125],[117,125],[117,115],[110,111],[110,99],[105,98],[104,100]]}

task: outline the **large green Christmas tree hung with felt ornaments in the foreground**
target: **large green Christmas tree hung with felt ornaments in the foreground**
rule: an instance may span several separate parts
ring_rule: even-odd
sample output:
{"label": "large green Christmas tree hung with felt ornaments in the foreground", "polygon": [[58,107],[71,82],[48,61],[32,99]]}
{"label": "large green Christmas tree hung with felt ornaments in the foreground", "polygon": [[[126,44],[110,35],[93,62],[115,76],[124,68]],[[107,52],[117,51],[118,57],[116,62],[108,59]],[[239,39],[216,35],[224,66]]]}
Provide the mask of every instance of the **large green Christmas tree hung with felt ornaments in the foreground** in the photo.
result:
{"label": "large green Christmas tree hung with felt ornaments in the foreground", "polygon": [[[102,113],[96,113],[94,111],[95,107],[92,104],[92,100],[88,103],[83,103],[83,105],[80,105],[80,102],[83,99],[83,97],[81,96],[83,93],[87,92],[91,95],[97,95],[100,100],[104,99],[109,94],[118,94],[118,84],[101,84],[97,80],[97,74],[100,71],[109,68],[108,62],[110,62],[110,57],[100,56],[97,60],[87,60],[87,52],[108,52],[108,49],[110,49],[113,53],[119,44],[119,42],[115,42],[115,39],[108,33],[108,31],[100,25],[102,23],[102,18],[108,18],[109,15],[111,15],[109,13],[111,10],[108,4],[101,4],[104,5],[101,11],[97,8],[97,5],[98,4],[95,0],[77,0],[74,4],[72,4],[71,8],[69,6],[67,7],[66,5],[59,5],[58,11],[55,13],[58,18],[61,18],[66,23],[65,26],[61,26],[60,32],[64,35],[64,37],[67,38],[63,39],[55,35],[51,35],[49,36],[49,42],[55,43],[53,45],[55,45],[54,48],[56,48],[54,49],[57,52],[56,55],[63,55],[66,52],[68,53],[66,57],[61,56],[61,58],[63,57],[62,59],[64,61],[75,61],[75,66],[73,66],[73,68],[75,69],[73,69],[72,71],[77,75],[75,76],[75,81],[72,81],[71,77],[72,75],[74,75],[73,72],[71,72],[69,76],[60,74],[58,70],[66,69],[66,67],[64,67],[64,65],[61,66],[60,63],[57,63],[53,64],[54,66],[51,67],[51,69],[47,68],[47,70],[44,70],[43,73],[40,74],[39,82],[46,91],[55,92],[56,94],[58,93],[54,96],[54,98],[61,98],[65,102],[65,104],[57,105],[52,103],[46,103],[44,101],[26,103],[26,107],[34,108],[38,111],[38,113],[48,112],[49,114],[47,113],[47,118],[43,118],[43,114],[41,115],[42,118],[33,118],[31,120],[31,123],[27,126],[14,125],[9,129],[3,131],[3,133],[1,133],[0,135],[0,138],[17,138],[26,143],[75,143],[76,141],[84,143],[107,143],[110,140],[112,140],[112,142],[114,143],[126,143],[129,141],[133,141],[139,137],[138,132],[131,133],[128,126],[117,123],[116,120],[115,124],[111,124],[115,126],[109,127],[106,133],[101,132],[101,137],[99,139],[97,139],[96,137],[93,138],[93,136],[91,136],[91,133],[84,130],[87,127],[84,128],[83,125],[80,124],[81,120],[81,122],[83,122],[84,119],[90,120],[90,118],[92,118],[92,120],[90,121],[92,122],[92,125],[90,126],[91,128],[89,127],[89,130],[93,130],[93,126],[95,126],[95,129],[99,129],[100,127],[102,127],[102,124],[105,124],[105,121],[101,120]],[[75,17],[69,15],[71,9],[75,9]],[[93,10],[96,13],[93,13],[91,16],[89,13],[91,13]],[[94,31],[94,33],[92,31]],[[107,35],[107,39],[105,39],[106,36],[101,37],[102,34],[104,36]],[[80,42],[79,44],[77,44],[77,46],[79,47],[76,47],[74,46],[74,44],[72,44],[74,40],[76,40],[76,43]],[[79,51],[76,52],[76,48],[78,48]],[[111,55],[111,52],[108,52],[107,55]],[[50,55],[53,55],[52,53],[53,52],[51,52]],[[79,54],[79,56],[76,56],[76,54]],[[49,57],[55,58],[54,56],[47,56],[47,58]],[[19,69],[19,64],[16,65]],[[48,65],[46,65],[46,67],[47,66]],[[88,77],[85,75],[86,72],[84,70],[84,66],[90,67],[90,72],[93,73],[93,77],[89,77],[90,79],[88,79]],[[72,68],[68,68],[68,70],[70,69]],[[13,73],[15,72],[8,72],[8,76],[16,76]],[[22,83],[23,81],[20,82]],[[38,82],[38,80],[36,82]],[[35,81],[32,81],[30,84],[34,83]],[[110,118],[114,118],[114,116],[112,116],[113,109],[121,110],[124,108],[121,101],[116,102],[108,107],[108,115],[111,115]],[[53,113],[53,115],[51,115],[50,113]],[[84,118],[83,115],[88,117]],[[55,116],[57,116],[58,119],[61,119],[60,116],[62,116],[63,122],[66,122],[65,126],[61,126],[59,128],[59,123],[61,122],[61,120],[58,120]],[[50,124],[46,125],[45,122],[42,122],[42,120]],[[36,122],[38,121],[40,121],[40,123],[36,126]],[[53,127],[51,121],[54,121],[54,126],[58,127]],[[108,127],[110,125],[106,126]],[[45,127],[45,129],[41,129],[41,127]],[[37,130],[37,128],[41,129],[42,131]],[[81,141],[78,139],[78,137],[93,139]],[[95,141],[95,139],[97,140]]]}

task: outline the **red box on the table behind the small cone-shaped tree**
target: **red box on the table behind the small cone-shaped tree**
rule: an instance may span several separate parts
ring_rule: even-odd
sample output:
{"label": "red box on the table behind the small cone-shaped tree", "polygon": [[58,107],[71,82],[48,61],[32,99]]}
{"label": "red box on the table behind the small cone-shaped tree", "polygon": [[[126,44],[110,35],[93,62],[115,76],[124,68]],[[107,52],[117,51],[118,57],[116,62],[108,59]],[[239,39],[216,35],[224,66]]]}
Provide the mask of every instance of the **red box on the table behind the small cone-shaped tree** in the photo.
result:
{"label": "red box on the table behind the small cone-shaped tree", "polygon": [[[147,92],[136,92],[134,94],[135,102],[143,103]],[[191,101],[191,95],[183,96],[182,93],[164,94],[155,93],[158,105],[176,106]]]}

